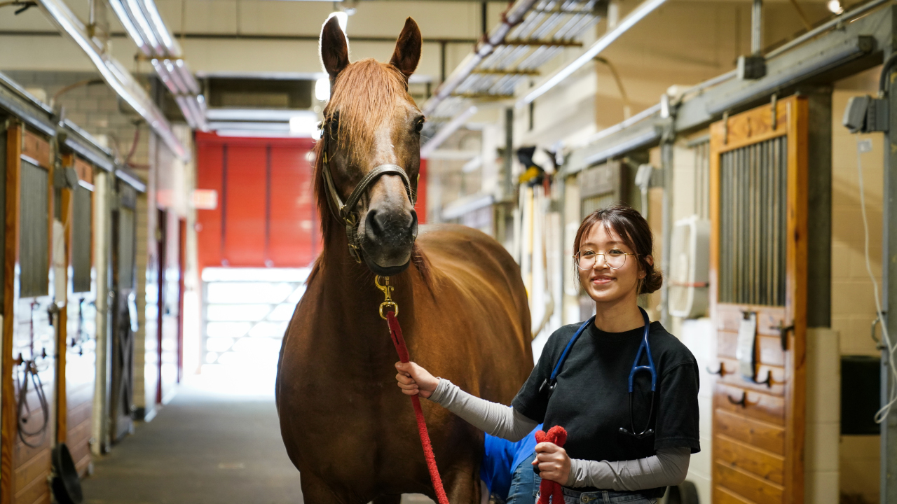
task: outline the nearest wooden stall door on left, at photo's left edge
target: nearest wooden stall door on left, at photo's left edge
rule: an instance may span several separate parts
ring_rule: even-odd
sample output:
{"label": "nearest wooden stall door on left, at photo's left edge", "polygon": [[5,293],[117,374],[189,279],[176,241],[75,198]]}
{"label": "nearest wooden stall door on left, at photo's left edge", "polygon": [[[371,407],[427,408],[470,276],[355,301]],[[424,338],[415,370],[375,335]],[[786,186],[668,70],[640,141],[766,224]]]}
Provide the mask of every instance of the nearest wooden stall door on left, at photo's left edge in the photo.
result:
{"label": "nearest wooden stall door on left, at photo's left edge", "polygon": [[22,126],[6,140],[0,502],[48,504],[57,353],[52,163],[47,140]]}

